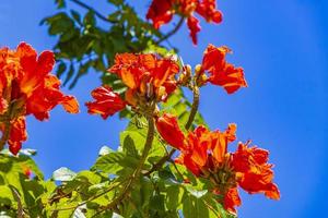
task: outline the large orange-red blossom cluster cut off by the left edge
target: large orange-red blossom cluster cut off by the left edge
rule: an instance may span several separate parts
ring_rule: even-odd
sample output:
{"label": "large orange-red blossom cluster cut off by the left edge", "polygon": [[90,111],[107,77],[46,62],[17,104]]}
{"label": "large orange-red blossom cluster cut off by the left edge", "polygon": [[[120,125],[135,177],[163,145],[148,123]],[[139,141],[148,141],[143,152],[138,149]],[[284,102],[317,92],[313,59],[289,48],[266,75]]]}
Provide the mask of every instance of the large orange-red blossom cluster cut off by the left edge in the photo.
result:
{"label": "large orange-red blossom cluster cut off by the left edge", "polygon": [[0,49],[0,131],[2,138],[9,135],[9,149],[14,155],[27,138],[26,116],[47,120],[49,111],[57,105],[62,105],[67,112],[79,112],[77,99],[62,94],[60,81],[50,73],[54,64],[51,51],[37,57],[25,43],[16,50]]}

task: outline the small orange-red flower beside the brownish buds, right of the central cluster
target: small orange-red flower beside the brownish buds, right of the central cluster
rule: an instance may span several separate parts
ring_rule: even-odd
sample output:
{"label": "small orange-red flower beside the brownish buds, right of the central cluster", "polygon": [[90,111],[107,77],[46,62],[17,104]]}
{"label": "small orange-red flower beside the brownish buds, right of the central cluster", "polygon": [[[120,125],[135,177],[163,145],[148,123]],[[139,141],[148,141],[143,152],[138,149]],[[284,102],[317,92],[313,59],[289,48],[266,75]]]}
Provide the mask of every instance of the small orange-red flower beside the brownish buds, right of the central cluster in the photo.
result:
{"label": "small orange-red flower beside the brownish buds, right of the central cluster", "polygon": [[231,50],[227,47],[209,45],[202,59],[201,72],[208,71],[210,83],[222,86],[227,94],[232,94],[239,87],[247,87],[247,83],[244,70],[225,61],[225,55],[229,52]]}

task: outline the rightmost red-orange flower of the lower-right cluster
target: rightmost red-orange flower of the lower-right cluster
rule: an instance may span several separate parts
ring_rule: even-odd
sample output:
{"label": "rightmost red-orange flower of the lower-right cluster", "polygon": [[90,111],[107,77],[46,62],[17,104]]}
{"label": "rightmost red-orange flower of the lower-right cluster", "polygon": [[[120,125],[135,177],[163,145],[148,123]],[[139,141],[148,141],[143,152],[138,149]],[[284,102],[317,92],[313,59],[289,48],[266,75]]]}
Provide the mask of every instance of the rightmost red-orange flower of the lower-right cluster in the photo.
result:
{"label": "rightmost red-orange flower of the lower-right cluster", "polygon": [[269,198],[279,199],[278,186],[272,182],[273,165],[268,164],[268,150],[239,143],[233,154],[232,165],[242,175],[238,184],[249,194],[263,193]]}

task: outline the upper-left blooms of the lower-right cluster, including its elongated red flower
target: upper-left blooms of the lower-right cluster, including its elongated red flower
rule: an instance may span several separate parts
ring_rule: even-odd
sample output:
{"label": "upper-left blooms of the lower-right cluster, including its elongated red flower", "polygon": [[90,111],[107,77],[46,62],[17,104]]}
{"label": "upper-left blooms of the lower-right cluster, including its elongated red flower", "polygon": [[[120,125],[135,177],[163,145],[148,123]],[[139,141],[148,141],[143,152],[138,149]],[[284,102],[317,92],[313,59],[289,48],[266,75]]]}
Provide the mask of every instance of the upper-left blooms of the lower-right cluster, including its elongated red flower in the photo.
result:
{"label": "upper-left blooms of the lower-right cluster, including its elongated red flower", "polygon": [[185,165],[196,175],[202,174],[206,167],[212,168],[223,162],[227,144],[235,140],[236,130],[235,124],[230,124],[225,132],[210,132],[200,125],[185,136],[176,117],[167,113],[156,120],[156,128],[169,145],[181,152],[176,162]]}

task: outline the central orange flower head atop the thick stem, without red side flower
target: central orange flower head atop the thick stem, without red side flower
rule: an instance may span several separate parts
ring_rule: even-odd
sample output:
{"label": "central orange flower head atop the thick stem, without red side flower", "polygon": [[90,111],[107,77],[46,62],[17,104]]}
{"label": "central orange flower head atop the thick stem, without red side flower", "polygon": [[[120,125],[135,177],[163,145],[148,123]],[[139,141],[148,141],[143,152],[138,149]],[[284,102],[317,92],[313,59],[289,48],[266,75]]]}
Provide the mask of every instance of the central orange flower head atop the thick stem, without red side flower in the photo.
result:
{"label": "central orange flower head atop the thick stem, without red side flower", "polygon": [[179,72],[179,66],[171,59],[151,53],[121,53],[116,55],[108,72],[122,80],[128,87],[126,100],[134,106],[141,98],[145,101],[165,100],[176,88],[175,74]]}

